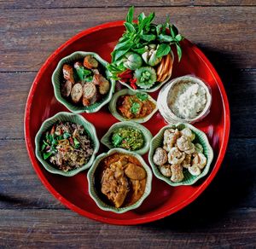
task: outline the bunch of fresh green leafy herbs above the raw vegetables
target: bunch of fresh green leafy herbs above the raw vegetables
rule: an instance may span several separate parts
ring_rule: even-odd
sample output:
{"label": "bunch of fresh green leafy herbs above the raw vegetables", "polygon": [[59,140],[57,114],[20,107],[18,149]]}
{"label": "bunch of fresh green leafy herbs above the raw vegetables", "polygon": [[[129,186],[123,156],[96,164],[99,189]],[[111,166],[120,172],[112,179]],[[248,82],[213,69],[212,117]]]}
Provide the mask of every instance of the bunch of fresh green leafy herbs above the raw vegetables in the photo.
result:
{"label": "bunch of fresh green leafy herbs above the raw vegetables", "polygon": [[112,63],[108,65],[112,78],[119,79],[118,74],[125,71],[122,59],[127,52],[133,51],[143,55],[146,46],[150,43],[159,44],[156,51],[158,58],[168,55],[172,45],[175,45],[178,61],[181,60],[180,42],[183,40],[183,36],[178,33],[177,27],[170,23],[169,18],[166,18],[164,24],[156,25],[153,23],[154,16],[154,12],[148,16],[141,13],[138,15],[137,21],[134,22],[134,7],[129,9],[124,23],[125,32],[113,49]]}

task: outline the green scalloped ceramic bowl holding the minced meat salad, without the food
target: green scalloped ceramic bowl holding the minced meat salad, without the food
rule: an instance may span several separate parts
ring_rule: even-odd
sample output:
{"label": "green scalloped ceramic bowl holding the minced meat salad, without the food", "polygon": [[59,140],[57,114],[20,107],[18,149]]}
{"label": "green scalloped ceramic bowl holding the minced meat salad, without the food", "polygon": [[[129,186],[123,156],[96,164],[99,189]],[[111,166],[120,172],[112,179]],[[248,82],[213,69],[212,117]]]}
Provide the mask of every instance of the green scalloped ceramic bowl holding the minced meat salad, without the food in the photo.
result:
{"label": "green scalloped ceramic bowl holding the minced meat salad, without the food", "polygon": [[[59,120],[64,122],[69,121],[79,125],[83,125],[84,129],[87,131],[88,135],[90,136],[90,140],[92,142],[94,152],[91,155],[90,160],[87,162],[87,164],[83,165],[79,169],[75,169],[73,171],[67,171],[67,172],[58,170],[54,166],[49,164],[46,160],[44,160],[43,155],[40,151],[41,140],[42,140],[42,136],[44,135],[44,132],[49,130],[49,128],[52,125],[54,125],[56,121],[59,121]],[[57,113],[55,114],[55,116],[49,119],[46,119],[44,123],[41,125],[40,129],[38,130],[38,133],[35,138],[35,143],[36,143],[36,156],[38,160],[41,162],[41,164],[44,166],[45,170],[54,174],[59,174],[64,177],[73,177],[74,175],[78,174],[80,171],[84,171],[85,169],[88,169],[90,165],[92,165],[96,157],[96,153],[98,152],[100,147],[100,143],[98,141],[94,125],[90,124],[90,122],[84,119],[84,117],[81,115],[74,114],[74,113],[66,113],[66,112]]]}

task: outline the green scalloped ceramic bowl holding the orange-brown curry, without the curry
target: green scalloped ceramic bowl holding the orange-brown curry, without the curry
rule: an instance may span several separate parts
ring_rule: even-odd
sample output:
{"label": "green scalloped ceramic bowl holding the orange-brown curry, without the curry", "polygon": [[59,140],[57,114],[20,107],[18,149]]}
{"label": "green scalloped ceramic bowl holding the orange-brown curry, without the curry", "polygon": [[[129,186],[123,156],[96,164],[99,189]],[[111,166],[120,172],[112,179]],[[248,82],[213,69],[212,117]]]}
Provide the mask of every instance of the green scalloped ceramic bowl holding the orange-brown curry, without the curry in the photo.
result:
{"label": "green scalloped ceramic bowl holding the orange-brown curry, without the curry", "polygon": [[[128,155],[131,155],[131,156],[137,158],[140,161],[140,163],[143,165],[145,171],[147,172],[147,182],[146,182],[145,192],[144,192],[143,196],[141,197],[141,199],[137,200],[137,202],[131,206],[125,206],[125,207],[120,207],[120,208],[116,208],[114,206],[109,206],[108,204],[104,203],[99,198],[99,196],[96,192],[96,188],[95,188],[96,168],[99,165],[99,163],[102,161],[102,159],[105,159],[106,157],[108,157],[109,155],[111,155],[113,153],[124,153],[124,154],[128,154]],[[90,170],[87,173],[87,179],[89,182],[88,188],[89,188],[90,197],[96,202],[96,205],[99,208],[101,208],[104,211],[113,211],[115,213],[123,213],[125,211],[130,211],[132,209],[136,209],[137,207],[141,206],[143,203],[143,200],[145,200],[148,197],[148,194],[150,194],[150,192],[151,192],[152,172],[150,170],[150,167],[143,160],[143,158],[140,155],[138,155],[137,153],[128,152],[125,149],[121,149],[121,148],[113,148],[113,149],[109,150],[108,153],[102,153],[96,157],[94,164],[90,167]]]}

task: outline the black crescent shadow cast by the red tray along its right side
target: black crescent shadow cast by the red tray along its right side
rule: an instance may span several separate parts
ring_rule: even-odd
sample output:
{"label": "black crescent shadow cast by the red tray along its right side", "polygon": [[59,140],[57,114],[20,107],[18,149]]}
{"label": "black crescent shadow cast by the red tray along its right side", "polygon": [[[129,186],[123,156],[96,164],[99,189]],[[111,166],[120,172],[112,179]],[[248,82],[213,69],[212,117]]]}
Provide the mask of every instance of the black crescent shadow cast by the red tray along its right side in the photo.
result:
{"label": "black crescent shadow cast by the red tray along its right side", "polygon": [[[231,125],[238,121],[232,119],[232,113],[236,112],[237,84],[242,88],[249,85],[242,81],[241,69],[235,63],[227,61],[231,55],[204,47],[202,51],[216,68],[224,83],[230,101]],[[232,55],[234,57],[234,55]],[[239,58],[234,58],[237,61]],[[246,105],[246,102],[244,103]],[[253,111],[253,110],[252,110]],[[241,120],[239,120],[241,124]],[[245,125],[246,126],[246,125]],[[236,127],[236,125],[235,125]],[[248,136],[249,136],[249,131]],[[230,142],[224,158],[224,162],[208,188],[192,204],[183,208],[170,217],[161,219],[144,226],[148,228],[170,229],[172,231],[194,231],[195,229],[206,229],[214,223],[221,223],[229,217],[228,212],[246,205],[252,205],[253,188],[255,188],[256,169],[253,162],[256,152],[255,142],[247,144],[242,148],[242,136],[234,129],[230,130]],[[235,138],[236,137],[236,138]],[[241,138],[239,138],[241,137]],[[241,148],[240,148],[241,147]]]}

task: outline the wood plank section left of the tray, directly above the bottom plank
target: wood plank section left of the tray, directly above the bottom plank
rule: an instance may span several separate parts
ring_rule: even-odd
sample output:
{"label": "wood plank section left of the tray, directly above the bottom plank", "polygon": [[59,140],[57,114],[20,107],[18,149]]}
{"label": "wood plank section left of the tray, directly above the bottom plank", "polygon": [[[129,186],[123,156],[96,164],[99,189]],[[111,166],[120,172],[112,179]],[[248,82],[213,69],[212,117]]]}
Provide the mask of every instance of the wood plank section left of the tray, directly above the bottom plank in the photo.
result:
{"label": "wood plank section left of the tray, directly above the bottom plank", "polygon": [[40,182],[24,140],[0,141],[0,209],[63,208]]}

